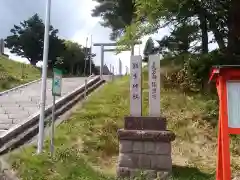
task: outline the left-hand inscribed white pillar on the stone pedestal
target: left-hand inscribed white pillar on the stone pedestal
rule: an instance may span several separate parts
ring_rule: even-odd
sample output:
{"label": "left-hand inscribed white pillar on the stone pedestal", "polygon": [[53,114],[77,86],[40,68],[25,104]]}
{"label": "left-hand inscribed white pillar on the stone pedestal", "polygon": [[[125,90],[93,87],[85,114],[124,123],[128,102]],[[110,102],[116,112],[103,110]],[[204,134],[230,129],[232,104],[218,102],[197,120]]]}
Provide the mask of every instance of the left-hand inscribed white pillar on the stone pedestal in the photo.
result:
{"label": "left-hand inscribed white pillar on the stone pedestal", "polygon": [[130,114],[142,115],[142,57],[131,56],[130,59]]}

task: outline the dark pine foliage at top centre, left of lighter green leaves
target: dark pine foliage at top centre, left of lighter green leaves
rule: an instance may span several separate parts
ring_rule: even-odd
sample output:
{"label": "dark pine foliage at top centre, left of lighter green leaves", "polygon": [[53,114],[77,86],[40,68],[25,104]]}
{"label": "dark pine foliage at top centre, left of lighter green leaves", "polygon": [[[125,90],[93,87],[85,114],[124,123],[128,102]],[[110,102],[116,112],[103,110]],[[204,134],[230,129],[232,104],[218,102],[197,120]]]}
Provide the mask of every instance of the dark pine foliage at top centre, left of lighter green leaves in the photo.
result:
{"label": "dark pine foliage at top centre, left of lighter green leaves", "polygon": [[135,0],[95,0],[99,3],[92,16],[102,17],[104,27],[112,29],[111,40],[116,40],[125,33],[126,26],[131,25],[135,18]]}

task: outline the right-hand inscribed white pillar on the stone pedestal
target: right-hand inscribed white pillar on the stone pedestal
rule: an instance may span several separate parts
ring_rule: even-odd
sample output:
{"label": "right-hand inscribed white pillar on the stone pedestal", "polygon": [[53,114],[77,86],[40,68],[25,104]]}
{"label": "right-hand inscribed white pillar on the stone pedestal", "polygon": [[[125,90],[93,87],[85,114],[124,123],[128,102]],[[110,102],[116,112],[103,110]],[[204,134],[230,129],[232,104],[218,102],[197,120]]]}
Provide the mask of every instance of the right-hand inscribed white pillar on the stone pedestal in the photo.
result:
{"label": "right-hand inscribed white pillar on the stone pedestal", "polygon": [[149,116],[160,116],[160,56],[150,55],[148,62]]}

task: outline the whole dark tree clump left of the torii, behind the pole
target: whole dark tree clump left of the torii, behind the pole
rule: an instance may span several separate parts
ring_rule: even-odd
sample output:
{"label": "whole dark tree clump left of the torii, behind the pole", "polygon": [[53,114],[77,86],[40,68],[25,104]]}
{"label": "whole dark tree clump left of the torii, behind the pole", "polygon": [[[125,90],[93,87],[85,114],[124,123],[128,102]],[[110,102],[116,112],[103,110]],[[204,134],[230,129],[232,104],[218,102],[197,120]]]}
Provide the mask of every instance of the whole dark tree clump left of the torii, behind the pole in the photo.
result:
{"label": "whole dark tree clump left of the torii, behind the pole", "polygon": [[[28,20],[20,22],[19,26],[14,25],[14,28],[10,30],[13,35],[8,36],[5,40],[6,47],[10,49],[11,53],[27,58],[35,66],[38,61],[43,59],[44,28],[42,19],[35,14]],[[49,72],[56,66],[62,69],[65,75],[89,74],[89,62],[94,57],[94,54],[90,54],[90,48],[60,39],[57,34],[58,30],[50,26]],[[85,61],[85,58],[88,61]],[[95,74],[97,72],[93,61],[92,71]]]}

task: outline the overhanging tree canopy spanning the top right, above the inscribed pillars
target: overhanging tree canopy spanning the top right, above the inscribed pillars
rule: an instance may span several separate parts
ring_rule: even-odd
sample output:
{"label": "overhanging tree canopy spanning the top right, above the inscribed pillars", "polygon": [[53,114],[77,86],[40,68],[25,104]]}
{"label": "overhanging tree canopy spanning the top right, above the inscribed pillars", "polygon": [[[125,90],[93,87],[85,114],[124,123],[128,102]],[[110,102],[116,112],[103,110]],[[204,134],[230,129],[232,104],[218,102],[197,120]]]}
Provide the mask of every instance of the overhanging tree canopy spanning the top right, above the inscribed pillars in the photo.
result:
{"label": "overhanging tree canopy spanning the top right, above the inscribed pillars", "polygon": [[216,42],[221,52],[228,57],[240,56],[238,0],[96,1],[99,5],[93,10],[93,16],[102,17],[102,25],[112,29],[111,39],[121,38],[122,45],[162,27],[179,28],[179,24],[191,20],[198,24],[201,46],[196,48],[202,54],[208,53],[209,33],[212,33],[211,42]]}

